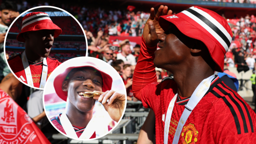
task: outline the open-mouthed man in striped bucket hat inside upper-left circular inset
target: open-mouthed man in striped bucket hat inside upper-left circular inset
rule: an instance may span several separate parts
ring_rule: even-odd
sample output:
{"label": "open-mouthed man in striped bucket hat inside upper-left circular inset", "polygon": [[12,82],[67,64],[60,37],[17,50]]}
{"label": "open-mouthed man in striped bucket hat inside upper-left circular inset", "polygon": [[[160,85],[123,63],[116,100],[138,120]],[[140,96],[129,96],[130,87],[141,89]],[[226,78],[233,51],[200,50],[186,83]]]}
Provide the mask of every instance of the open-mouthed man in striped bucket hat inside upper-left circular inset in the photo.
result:
{"label": "open-mouthed man in striped bucket hat inside upper-left circular inset", "polygon": [[46,13],[33,12],[23,17],[22,31],[17,40],[25,42],[25,51],[8,59],[13,73],[22,82],[44,88],[49,75],[60,65],[57,59],[48,55],[54,38],[61,32]]}

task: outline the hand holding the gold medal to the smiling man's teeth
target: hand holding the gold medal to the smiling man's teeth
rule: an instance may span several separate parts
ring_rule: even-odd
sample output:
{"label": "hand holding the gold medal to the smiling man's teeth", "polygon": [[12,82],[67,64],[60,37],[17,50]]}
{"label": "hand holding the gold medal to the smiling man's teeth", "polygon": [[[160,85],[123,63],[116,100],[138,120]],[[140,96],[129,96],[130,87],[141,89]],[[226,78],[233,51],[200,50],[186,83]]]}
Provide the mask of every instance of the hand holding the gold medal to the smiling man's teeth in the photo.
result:
{"label": "hand holding the gold medal to the smiling man's teeth", "polygon": [[[105,110],[109,113],[110,117],[118,122],[125,109],[125,94],[115,92],[114,90],[107,90],[106,92],[94,91],[100,96],[93,97],[103,104]],[[109,102],[107,100],[109,99]]]}

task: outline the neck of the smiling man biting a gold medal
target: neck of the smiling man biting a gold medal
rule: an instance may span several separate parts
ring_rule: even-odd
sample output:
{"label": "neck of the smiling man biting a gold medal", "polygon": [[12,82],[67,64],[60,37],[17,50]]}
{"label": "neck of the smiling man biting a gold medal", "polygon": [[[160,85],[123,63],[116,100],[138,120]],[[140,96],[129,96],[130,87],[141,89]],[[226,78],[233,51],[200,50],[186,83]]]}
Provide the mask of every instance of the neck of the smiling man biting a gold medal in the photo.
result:
{"label": "neck of the smiling man biting a gold medal", "polygon": [[86,127],[93,117],[93,110],[84,113],[77,110],[77,108],[71,103],[68,104],[66,109],[66,115],[73,126]]}

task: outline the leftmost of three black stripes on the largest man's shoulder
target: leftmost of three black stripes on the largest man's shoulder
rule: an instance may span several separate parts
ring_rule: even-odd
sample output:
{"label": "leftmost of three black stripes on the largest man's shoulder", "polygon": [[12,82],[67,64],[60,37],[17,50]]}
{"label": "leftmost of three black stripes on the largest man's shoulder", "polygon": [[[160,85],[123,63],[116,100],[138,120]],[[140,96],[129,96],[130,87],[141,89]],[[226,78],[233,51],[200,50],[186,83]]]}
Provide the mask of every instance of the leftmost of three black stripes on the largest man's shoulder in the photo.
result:
{"label": "leftmost of three black stripes on the largest man's shoulder", "polygon": [[214,96],[216,96],[217,98],[222,98],[223,101],[227,104],[227,106],[228,106],[229,109],[230,109],[230,112],[232,113],[232,115],[233,115],[233,117],[234,117],[234,121],[235,121],[235,124],[236,124],[236,127],[237,127],[237,133],[238,133],[238,134],[241,134],[241,127],[240,127],[239,120],[238,120],[238,117],[237,117],[236,112],[234,111],[233,106],[228,102],[228,100],[227,100],[225,97],[222,97],[222,96],[219,95],[216,91],[212,90],[211,93],[212,93]]}

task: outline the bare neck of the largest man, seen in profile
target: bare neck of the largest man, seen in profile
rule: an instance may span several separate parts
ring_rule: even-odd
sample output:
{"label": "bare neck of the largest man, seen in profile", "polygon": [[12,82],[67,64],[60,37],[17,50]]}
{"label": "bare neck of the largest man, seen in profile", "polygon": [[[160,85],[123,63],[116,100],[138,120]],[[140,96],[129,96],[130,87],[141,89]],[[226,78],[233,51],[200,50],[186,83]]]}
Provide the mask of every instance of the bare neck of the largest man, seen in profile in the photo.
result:
{"label": "bare neck of the largest man, seen in profile", "polygon": [[171,72],[181,97],[190,97],[205,78],[214,74],[214,71],[205,62],[190,62],[187,66],[181,66]]}

